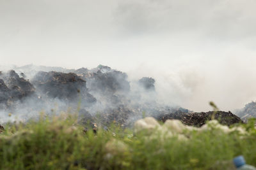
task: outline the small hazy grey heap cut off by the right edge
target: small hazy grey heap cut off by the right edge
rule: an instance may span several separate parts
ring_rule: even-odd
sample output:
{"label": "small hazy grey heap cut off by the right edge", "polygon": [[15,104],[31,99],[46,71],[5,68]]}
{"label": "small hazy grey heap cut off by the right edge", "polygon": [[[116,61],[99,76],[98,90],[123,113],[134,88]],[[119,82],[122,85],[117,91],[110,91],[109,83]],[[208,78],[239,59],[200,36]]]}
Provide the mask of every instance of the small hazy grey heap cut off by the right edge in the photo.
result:
{"label": "small hazy grey heap cut off by the right edge", "polygon": [[252,101],[246,104],[243,109],[236,110],[235,113],[244,121],[247,121],[249,118],[256,118],[256,102]]}

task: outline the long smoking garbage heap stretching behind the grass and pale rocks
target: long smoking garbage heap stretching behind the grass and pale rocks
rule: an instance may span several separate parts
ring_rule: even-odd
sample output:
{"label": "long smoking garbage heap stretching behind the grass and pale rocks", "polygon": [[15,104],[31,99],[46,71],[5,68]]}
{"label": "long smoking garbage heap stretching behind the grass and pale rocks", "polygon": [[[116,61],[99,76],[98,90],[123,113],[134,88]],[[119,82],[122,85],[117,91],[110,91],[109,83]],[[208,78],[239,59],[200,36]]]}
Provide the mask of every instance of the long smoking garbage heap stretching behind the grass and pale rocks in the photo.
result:
{"label": "long smoking garbage heap stretching behind the grass and pale rocks", "polygon": [[[160,104],[154,78],[143,77],[130,82],[127,74],[102,65],[94,69],[61,69],[61,72],[60,68],[57,71],[54,67],[52,71],[43,68],[47,70],[37,69],[31,74],[31,66],[16,67],[15,71],[0,74],[0,122],[10,121],[8,113],[26,121],[38,117],[40,111],[47,114],[70,111],[78,112],[83,124],[116,122],[127,126],[151,116],[162,121],[179,119],[187,125],[201,126],[212,114]],[[26,80],[26,75],[31,80]],[[241,122],[230,112],[220,115],[223,124]]]}

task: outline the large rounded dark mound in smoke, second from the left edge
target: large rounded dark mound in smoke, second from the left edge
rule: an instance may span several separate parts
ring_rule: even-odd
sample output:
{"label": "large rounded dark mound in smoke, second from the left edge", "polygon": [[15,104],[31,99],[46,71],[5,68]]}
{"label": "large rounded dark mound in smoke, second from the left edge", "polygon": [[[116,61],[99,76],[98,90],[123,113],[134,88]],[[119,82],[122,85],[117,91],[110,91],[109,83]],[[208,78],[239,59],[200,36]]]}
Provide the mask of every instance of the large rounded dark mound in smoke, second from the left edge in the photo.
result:
{"label": "large rounded dark mound in smoke, second from the left edge", "polygon": [[75,73],[38,72],[32,80],[36,89],[48,97],[68,101],[81,99],[83,103],[92,104],[96,99],[88,93],[86,81]]}

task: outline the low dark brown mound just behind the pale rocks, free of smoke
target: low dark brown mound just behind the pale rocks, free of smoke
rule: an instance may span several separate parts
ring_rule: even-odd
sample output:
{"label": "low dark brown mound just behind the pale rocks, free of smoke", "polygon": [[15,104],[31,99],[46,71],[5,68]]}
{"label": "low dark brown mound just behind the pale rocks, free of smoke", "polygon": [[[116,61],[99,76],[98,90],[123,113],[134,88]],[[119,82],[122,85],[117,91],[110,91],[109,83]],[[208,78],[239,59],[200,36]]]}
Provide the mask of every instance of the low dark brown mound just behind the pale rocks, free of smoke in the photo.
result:
{"label": "low dark brown mound just behind the pale rocks, free of smoke", "polygon": [[[183,122],[185,125],[193,125],[196,127],[201,127],[202,125],[207,122],[207,120],[211,120],[212,115],[214,114],[214,111],[209,112],[201,112],[201,113],[181,113],[180,111],[177,111],[176,113],[168,113],[159,115],[157,120],[161,120],[165,122],[168,119],[177,119]],[[231,113],[230,111],[217,111],[215,115],[215,119],[220,121],[220,124],[223,125],[232,125],[241,123],[242,120]]]}

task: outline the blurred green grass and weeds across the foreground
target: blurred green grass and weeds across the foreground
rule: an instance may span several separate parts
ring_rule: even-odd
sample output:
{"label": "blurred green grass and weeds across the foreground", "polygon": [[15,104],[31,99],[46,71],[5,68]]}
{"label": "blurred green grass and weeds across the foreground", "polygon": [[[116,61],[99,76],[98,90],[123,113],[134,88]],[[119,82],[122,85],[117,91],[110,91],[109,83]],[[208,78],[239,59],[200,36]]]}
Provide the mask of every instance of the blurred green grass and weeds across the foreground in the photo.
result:
{"label": "blurred green grass and weeds across the foreground", "polygon": [[6,125],[0,134],[0,169],[227,169],[237,155],[256,166],[255,120],[248,134],[190,132],[188,140],[149,139],[112,125],[97,134],[71,115]]}

